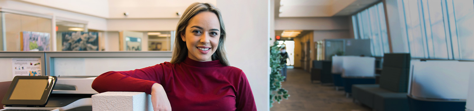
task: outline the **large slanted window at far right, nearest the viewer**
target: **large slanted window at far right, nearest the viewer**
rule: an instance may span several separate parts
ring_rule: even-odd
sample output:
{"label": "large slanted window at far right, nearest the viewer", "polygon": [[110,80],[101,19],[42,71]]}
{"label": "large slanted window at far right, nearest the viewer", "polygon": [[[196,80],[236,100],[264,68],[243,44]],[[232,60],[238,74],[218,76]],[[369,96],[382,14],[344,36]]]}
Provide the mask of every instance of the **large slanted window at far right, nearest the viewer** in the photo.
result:
{"label": "large slanted window at far right, nearest the viewer", "polygon": [[413,58],[474,60],[473,0],[402,0]]}

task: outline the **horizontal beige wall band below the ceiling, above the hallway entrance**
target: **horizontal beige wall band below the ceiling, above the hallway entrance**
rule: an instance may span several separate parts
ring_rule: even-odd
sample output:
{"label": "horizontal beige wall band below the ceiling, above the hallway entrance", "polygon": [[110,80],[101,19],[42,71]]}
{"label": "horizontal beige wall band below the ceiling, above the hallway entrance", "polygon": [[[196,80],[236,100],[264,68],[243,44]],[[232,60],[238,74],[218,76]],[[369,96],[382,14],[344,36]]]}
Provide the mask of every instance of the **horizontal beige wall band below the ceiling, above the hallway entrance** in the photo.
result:
{"label": "horizontal beige wall band below the ceiling, above the hallway entrance", "polygon": [[275,30],[339,30],[348,29],[347,17],[279,17]]}

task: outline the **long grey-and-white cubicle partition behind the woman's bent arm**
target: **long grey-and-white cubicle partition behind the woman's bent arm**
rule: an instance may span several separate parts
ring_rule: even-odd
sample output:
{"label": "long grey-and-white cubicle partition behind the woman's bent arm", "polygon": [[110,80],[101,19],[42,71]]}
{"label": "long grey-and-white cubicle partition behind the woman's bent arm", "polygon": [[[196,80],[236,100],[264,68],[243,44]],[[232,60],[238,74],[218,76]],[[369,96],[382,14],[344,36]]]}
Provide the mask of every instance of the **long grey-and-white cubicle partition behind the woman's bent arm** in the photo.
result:
{"label": "long grey-and-white cubicle partition behind the woman's bent arm", "polygon": [[38,58],[41,76],[99,76],[171,60],[171,51],[0,51],[0,82],[11,81],[15,58]]}

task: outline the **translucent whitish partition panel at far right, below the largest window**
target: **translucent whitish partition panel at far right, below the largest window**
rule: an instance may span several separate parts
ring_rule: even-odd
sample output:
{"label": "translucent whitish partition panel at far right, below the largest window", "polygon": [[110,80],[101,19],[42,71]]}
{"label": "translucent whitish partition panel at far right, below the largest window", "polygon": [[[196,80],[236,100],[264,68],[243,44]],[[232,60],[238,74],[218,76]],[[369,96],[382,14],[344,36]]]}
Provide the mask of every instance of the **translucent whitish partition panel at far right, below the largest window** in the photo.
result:
{"label": "translucent whitish partition panel at far right, below the largest window", "polygon": [[465,100],[473,63],[456,60],[412,62],[409,94],[418,98]]}

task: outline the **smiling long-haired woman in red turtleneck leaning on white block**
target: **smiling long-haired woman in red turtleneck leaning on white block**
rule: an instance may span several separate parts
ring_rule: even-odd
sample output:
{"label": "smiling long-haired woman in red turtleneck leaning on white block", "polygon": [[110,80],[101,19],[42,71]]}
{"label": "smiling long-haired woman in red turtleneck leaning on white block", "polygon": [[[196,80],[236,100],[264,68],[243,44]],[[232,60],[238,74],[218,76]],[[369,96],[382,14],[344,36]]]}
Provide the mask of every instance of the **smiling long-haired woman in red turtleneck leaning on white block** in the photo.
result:
{"label": "smiling long-haired woman in red turtleneck leaning on white block", "polygon": [[109,71],[92,88],[99,93],[151,94],[155,111],[256,111],[244,72],[229,66],[219,9],[193,3],[176,27],[171,62],[130,71]]}

